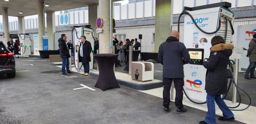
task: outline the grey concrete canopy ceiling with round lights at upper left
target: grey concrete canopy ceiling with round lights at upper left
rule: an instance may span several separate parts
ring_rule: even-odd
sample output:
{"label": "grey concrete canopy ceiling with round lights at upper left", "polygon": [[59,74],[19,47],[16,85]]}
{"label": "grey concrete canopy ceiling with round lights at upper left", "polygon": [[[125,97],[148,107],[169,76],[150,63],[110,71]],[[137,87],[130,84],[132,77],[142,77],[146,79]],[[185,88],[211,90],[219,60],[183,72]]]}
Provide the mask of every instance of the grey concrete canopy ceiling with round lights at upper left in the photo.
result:
{"label": "grey concrete canopy ceiling with round lights at upper left", "polygon": [[[113,2],[116,1],[121,0],[113,0]],[[44,3],[49,4],[49,7],[45,7],[45,12],[49,12],[86,7],[91,4],[98,4],[99,0],[45,0]],[[9,0],[8,2],[0,0],[0,15],[2,15],[2,7],[8,8],[8,16],[37,15],[37,0]]]}

